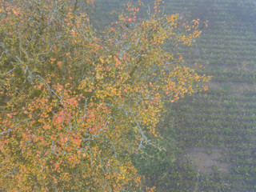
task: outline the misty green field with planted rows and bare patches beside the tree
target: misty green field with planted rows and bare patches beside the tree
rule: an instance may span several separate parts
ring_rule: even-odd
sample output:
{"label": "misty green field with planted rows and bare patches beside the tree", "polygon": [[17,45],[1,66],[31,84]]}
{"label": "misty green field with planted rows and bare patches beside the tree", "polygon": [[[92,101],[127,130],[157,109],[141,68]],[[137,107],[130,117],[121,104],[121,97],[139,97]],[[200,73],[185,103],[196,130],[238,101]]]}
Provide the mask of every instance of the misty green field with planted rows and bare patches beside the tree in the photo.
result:
{"label": "misty green field with planted rows and bare patches beside the tree", "polygon": [[208,91],[166,104],[166,152],[150,150],[138,169],[158,191],[256,191],[256,3],[168,0],[165,13],[209,21],[183,55],[212,81]]}

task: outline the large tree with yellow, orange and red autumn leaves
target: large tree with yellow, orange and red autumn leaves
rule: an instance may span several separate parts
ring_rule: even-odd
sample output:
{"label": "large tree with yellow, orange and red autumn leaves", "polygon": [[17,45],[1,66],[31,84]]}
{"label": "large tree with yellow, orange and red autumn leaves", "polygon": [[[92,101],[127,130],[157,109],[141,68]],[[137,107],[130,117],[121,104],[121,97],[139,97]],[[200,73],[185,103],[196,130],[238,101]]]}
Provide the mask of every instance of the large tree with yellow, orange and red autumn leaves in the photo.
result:
{"label": "large tree with yellow, orange and red autumn leaves", "polygon": [[95,34],[93,1],[0,1],[1,190],[141,189],[130,156],[154,146],[163,101],[209,80],[176,51],[198,38],[198,20],[160,4],[141,19],[142,2],[128,3]]}

